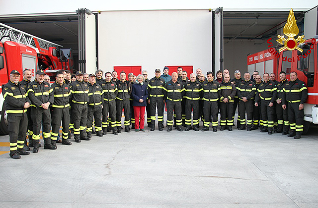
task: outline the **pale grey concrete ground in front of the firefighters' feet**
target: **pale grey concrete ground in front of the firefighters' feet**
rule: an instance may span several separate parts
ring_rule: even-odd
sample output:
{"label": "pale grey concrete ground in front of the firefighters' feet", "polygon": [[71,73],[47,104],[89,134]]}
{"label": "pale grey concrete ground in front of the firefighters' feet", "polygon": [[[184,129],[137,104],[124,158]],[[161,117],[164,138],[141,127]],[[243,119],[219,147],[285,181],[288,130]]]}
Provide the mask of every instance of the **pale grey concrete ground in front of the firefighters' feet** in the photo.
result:
{"label": "pale grey concrete ground in front of the firefighters' feet", "polygon": [[0,155],[0,207],[318,207],[317,126],[300,140],[201,129],[146,127],[81,143],[72,138],[72,146],[42,146],[18,160]]}

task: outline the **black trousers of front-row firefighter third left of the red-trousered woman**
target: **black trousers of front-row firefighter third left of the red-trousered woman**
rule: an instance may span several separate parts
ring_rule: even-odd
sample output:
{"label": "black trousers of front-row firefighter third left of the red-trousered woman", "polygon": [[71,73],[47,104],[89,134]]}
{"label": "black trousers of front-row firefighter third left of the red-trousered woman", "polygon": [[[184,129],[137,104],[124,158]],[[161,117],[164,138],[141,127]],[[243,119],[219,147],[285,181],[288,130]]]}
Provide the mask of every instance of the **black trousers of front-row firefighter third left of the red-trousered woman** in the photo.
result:
{"label": "black trousers of front-row firefighter third left of the red-trousered woman", "polygon": [[101,114],[102,108],[101,104],[94,106],[88,105],[87,107],[87,128],[86,132],[91,132],[93,130],[93,121],[95,120],[95,131],[101,131]]}

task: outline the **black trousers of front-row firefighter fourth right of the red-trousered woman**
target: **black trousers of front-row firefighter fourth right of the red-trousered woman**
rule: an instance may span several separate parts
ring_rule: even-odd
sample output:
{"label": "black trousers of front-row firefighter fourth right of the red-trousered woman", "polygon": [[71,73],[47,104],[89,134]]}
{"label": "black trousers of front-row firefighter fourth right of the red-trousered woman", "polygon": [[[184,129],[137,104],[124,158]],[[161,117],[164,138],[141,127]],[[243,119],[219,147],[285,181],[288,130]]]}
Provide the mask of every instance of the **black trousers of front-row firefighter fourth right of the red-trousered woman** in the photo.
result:
{"label": "black trousers of front-row firefighter fourth right of the red-trousered woman", "polygon": [[210,102],[210,101],[204,101],[203,103],[203,113],[204,113],[204,127],[208,127],[211,122],[211,116],[212,116],[212,126],[217,127],[218,126],[218,113],[219,113],[219,107],[218,102]]}

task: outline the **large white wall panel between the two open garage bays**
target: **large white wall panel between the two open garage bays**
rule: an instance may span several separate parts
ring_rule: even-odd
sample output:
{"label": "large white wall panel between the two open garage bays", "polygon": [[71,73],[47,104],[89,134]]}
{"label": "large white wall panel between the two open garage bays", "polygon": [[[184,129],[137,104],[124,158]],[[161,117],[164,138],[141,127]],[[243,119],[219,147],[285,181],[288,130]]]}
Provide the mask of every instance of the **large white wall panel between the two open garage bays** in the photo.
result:
{"label": "large white wall panel between the two open garage bays", "polygon": [[111,71],[113,66],[141,65],[150,75],[165,65],[212,70],[211,16],[207,9],[102,11],[99,68]]}

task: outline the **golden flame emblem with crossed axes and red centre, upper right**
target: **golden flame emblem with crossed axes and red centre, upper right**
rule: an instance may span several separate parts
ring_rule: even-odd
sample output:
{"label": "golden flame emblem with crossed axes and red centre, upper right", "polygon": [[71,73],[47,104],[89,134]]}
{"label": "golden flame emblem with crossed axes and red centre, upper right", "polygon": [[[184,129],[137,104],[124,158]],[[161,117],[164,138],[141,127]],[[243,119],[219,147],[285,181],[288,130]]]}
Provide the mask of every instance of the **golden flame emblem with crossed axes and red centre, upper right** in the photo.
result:
{"label": "golden flame emblem with crossed axes and red centre, upper right", "polygon": [[[289,51],[293,51],[294,49],[297,49],[298,51],[303,52],[303,50],[301,48],[299,48],[297,45],[305,42],[305,40],[304,40],[305,36],[303,36],[303,35],[298,36],[297,39],[294,39],[294,37],[296,35],[298,35],[299,29],[298,29],[298,26],[296,23],[296,18],[294,16],[294,11],[292,8],[289,10],[287,23],[284,26],[283,32],[288,37],[288,39],[285,39],[284,36],[281,36],[281,35],[277,36],[279,39],[276,41],[279,44],[284,45],[283,48],[279,49],[279,52],[282,52],[285,49],[287,49]],[[284,41],[284,43],[283,43],[283,41]]]}

